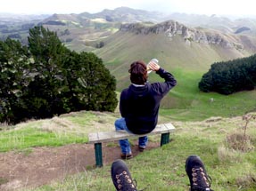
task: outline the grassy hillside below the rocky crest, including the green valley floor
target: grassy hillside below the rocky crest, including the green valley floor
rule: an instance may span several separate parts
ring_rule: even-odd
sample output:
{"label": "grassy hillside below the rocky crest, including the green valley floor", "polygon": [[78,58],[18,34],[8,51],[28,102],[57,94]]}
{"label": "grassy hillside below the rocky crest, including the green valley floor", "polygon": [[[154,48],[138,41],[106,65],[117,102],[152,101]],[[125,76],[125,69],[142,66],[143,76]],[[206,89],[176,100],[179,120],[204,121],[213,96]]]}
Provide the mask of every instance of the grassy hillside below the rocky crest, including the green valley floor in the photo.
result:
{"label": "grassy hillside below the rocky crest, including the green valley floor", "polygon": [[[227,36],[232,37],[237,36]],[[128,68],[134,60],[147,62],[157,58],[161,67],[169,70],[178,80],[178,85],[161,102],[161,115],[169,118],[194,121],[195,118],[203,120],[218,116],[219,111],[222,116],[228,117],[244,115],[256,109],[255,91],[225,96],[214,92],[203,93],[198,89],[202,75],[209,70],[211,64],[248,56],[251,54],[249,51],[227,49],[216,44],[186,44],[184,38],[178,35],[170,39],[164,34],[136,35],[119,31],[110,36],[105,46],[95,53],[116,77],[118,92],[130,84]],[[158,76],[150,74],[150,82],[159,80]],[[194,115],[197,117],[194,118]]]}

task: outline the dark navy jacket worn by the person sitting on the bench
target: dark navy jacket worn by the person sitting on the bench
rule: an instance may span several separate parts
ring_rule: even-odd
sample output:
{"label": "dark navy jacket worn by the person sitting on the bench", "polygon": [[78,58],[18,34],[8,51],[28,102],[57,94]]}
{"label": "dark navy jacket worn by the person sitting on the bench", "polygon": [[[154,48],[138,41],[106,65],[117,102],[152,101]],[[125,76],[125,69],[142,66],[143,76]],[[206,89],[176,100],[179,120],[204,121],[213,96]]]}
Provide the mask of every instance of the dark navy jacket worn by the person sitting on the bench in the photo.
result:
{"label": "dark navy jacket worn by the person sitting on the bench", "polygon": [[174,76],[163,68],[156,74],[165,82],[143,86],[131,84],[120,94],[120,114],[125,118],[128,130],[135,134],[153,131],[158,122],[161,99],[177,84]]}

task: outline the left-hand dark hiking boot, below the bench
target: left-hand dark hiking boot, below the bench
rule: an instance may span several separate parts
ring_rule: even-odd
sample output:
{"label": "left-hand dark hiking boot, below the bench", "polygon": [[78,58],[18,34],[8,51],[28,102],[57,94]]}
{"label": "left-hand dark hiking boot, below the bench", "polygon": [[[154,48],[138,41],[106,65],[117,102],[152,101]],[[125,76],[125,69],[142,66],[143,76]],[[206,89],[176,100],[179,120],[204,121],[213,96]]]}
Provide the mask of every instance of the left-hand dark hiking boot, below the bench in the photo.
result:
{"label": "left-hand dark hiking boot, below the bench", "polygon": [[118,191],[137,191],[126,163],[120,159],[111,165],[111,179]]}

